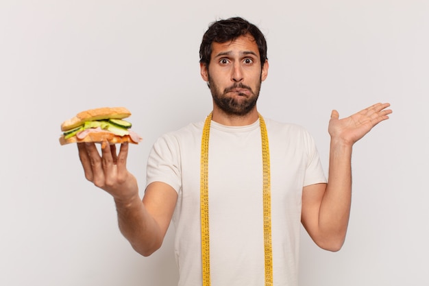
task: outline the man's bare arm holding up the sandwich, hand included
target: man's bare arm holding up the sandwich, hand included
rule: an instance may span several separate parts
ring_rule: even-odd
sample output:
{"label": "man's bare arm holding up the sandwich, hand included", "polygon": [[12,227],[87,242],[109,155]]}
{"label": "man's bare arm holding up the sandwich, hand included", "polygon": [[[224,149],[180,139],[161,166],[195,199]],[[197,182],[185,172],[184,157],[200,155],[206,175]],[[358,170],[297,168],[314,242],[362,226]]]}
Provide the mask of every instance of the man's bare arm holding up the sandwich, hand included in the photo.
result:
{"label": "man's bare arm holding up the sandwich, hand included", "polygon": [[171,217],[177,193],[168,184],[149,184],[143,201],[136,178],[127,171],[128,143],[116,154],[115,145],[103,143],[101,156],[94,143],[78,143],[79,158],[86,179],[113,196],[119,229],[134,250],[148,256],[160,248]]}

